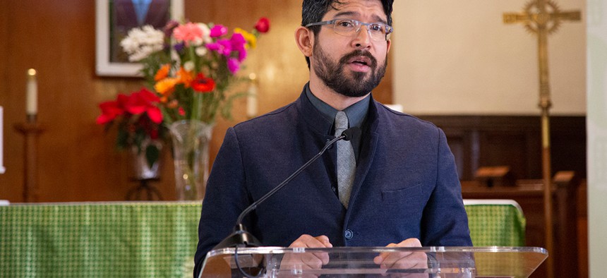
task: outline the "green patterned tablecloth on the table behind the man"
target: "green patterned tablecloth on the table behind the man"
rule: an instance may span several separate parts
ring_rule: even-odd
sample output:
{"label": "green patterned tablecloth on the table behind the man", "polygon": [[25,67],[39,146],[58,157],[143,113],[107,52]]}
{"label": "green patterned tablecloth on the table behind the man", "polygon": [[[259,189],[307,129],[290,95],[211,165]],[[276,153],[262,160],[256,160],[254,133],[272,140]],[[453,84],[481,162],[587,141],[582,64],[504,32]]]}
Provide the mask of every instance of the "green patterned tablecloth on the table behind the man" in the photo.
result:
{"label": "green patterned tablecloth on the table behind the man", "polygon": [[[0,277],[191,277],[200,203],[0,206]],[[512,205],[467,205],[475,246],[522,246]]]}

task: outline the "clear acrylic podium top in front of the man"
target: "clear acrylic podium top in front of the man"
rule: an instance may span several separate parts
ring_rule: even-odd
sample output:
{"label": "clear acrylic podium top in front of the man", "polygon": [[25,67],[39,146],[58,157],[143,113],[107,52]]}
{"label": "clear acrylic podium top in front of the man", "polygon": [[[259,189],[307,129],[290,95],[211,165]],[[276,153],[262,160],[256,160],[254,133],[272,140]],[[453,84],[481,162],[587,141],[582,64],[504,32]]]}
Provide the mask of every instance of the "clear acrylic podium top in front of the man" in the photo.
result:
{"label": "clear acrylic podium top in front of the man", "polygon": [[[380,254],[395,260],[378,265]],[[538,247],[223,248],[199,277],[529,277],[547,257]]]}

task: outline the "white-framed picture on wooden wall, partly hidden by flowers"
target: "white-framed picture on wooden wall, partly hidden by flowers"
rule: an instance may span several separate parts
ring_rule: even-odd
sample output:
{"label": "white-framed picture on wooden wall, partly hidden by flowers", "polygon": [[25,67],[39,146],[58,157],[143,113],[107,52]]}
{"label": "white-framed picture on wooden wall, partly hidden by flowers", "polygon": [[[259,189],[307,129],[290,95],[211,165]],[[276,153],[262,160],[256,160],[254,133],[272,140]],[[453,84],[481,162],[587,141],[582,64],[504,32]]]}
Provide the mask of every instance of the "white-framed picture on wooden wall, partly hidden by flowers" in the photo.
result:
{"label": "white-framed picture on wooden wall, partly hidden by flowers", "polygon": [[139,76],[141,65],[128,61],[120,41],[128,30],[144,25],[162,29],[184,16],[184,0],[96,0],[97,75]]}

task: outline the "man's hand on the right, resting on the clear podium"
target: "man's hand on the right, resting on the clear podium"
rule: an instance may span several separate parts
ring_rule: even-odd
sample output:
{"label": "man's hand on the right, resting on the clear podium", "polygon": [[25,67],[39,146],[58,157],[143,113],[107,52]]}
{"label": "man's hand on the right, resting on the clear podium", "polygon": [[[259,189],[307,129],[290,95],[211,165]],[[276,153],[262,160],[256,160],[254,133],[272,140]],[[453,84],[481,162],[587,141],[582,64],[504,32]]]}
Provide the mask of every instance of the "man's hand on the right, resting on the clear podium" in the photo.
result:
{"label": "man's hand on the right, resting on the clear podium", "polygon": [[[421,247],[421,242],[417,238],[407,238],[398,244],[390,243],[386,247]],[[424,252],[387,252],[380,253],[380,255],[373,258],[375,264],[380,265],[380,268],[386,270],[426,269],[428,268],[427,260],[428,257]]]}

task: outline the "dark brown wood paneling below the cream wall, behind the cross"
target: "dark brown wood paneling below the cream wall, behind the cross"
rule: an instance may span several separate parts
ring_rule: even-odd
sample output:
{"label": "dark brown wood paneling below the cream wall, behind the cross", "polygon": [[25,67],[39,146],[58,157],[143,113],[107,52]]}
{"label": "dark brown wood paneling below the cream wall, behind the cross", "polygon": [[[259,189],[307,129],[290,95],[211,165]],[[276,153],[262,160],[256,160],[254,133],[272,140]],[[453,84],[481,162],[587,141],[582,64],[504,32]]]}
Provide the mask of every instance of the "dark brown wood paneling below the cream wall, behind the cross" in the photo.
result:
{"label": "dark brown wood paneling below the cream wall, behind the cross", "polygon": [[[505,165],[515,179],[541,178],[539,116],[435,116],[426,119],[443,128],[454,150],[460,179],[474,179],[479,167]],[[553,173],[573,170],[586,177],[584,116],[551,118]],[[463,157],[459,157],[462,155]]]}

